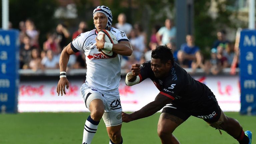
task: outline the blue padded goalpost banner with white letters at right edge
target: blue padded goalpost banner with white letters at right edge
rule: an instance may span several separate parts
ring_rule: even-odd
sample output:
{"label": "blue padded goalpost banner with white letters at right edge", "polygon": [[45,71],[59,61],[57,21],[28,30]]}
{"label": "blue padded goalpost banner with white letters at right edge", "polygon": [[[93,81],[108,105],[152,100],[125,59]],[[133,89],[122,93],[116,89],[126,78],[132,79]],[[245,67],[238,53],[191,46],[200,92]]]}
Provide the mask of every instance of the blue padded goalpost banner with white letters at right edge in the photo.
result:
{"label": "blue padded goalpost banner with white letters at right edge", "polygon": [[240,35],[241,114],[256,115],[256,31]]}

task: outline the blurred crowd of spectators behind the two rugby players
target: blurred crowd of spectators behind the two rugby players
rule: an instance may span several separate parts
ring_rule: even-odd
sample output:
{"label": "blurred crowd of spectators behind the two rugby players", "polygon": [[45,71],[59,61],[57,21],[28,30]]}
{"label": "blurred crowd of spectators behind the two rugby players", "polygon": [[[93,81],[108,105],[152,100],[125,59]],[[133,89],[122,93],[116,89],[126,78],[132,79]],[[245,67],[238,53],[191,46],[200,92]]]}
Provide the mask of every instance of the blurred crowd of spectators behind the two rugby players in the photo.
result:
{"label": "blurred crowd of spectators behind the two rugby players", "polygon": [[[130,71],[131,64],[143,63],[151,60],[151,51],[158,45],[167,45],[173,50],[175,61],[183,68],[191,68],[192,73],[197,69],[205,74],[219,74],[224,68],[237,67],[239,63],[239,49],[226,39],[226,31],[217,32],[217,40],[213,43],[210,58],[203,56],[200,48],[195,45],[193,35],[186,36],[186,43],[176,47],[176,27],[172,19],[166,19],[163,27],[152,27],[149,37],[139,23],[131,25],[126,22],[124,13],[119,14],[118,23],[113,24],[124,31],[133,48],[131,56],[122,57],[122,69]],[[19,23],[20,29],[20,69],[58,69],[60,53],[70,42],[69,38],[76,38],[80,33],[88,30],[87,23],[81,21],[78,30],[70,34],[64,24],[58,24],[54,32],[49,32],[46,41],[39,46],[39,30],[30,19]],[[149,38],[149,39],[148,39]],[[234,64],[235,63],[235,64]],[[234,66],[235,65],[235,66]],[[83,52],[71,55],[68,69],[86,68]]]}

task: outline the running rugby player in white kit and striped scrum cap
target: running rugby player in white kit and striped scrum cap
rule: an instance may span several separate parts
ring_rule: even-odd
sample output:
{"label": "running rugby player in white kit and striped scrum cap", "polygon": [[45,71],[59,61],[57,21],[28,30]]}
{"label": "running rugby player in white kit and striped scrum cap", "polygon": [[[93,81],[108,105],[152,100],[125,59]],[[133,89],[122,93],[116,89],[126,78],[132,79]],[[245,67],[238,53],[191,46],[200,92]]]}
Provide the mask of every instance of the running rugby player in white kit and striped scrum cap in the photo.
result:
{"label": "running rugby player in white kit and striped scrum cap", "polygon": [[[93,22],[96,29],[81,33],[61,52],[57,93],[58,95],[66,94],[65,86],[67,89],[69,87],[65,72],[69,55],[83,51],[86,56],[87,73],[86,81],[81,87],[81,94],[91,114],[85,122],[82,144],[91,143],[101,118],[107,127],[109,144],[122,144],[122,107],[118,91],[121,79],[120,60],[121,55],[132,54],[132,47],[124,32],[111,27],[112,13],[108,7],[98,6],[94,9]],[[109,44],[104,38],[98,40],[97,33],[104,29],[111,31],[119,43]],[[112,51],[118,55],[107,58],[100,52],[104,46],[111,46]]]}

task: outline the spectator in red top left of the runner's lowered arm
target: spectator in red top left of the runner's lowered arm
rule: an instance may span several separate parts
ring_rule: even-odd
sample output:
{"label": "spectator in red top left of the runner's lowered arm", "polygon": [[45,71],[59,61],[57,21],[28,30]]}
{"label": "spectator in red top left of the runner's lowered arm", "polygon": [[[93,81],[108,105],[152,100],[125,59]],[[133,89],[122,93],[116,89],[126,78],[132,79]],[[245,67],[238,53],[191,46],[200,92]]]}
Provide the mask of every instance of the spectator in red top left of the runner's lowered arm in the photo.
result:
{"label": "spectator in red top left of the runner's lowered arm", "polygon": [[46,38],[47,40],[43,43],[43,50],[52,50],[54,55],[58,55],[61,52],[61,48],[58,44],[58,40],[56,39],[56,35],[48,33],[46,35]]}

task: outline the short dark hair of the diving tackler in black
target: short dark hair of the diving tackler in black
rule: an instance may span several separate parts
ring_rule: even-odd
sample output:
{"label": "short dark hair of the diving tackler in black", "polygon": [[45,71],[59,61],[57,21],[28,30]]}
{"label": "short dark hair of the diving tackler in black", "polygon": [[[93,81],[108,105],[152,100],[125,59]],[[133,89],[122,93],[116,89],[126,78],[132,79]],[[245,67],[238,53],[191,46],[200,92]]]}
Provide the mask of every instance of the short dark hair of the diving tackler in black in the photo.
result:
{"label": "short dark hair of the diving tackler in black", "polygon": [[171,60],[172,65],[174,64],[172,50],[166,45],[157,46],[156,49],[152,50],[151,58],[160,59],[163,64]]}

